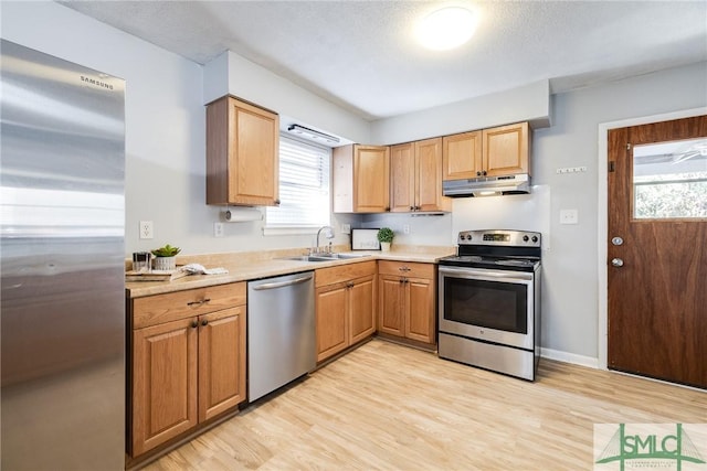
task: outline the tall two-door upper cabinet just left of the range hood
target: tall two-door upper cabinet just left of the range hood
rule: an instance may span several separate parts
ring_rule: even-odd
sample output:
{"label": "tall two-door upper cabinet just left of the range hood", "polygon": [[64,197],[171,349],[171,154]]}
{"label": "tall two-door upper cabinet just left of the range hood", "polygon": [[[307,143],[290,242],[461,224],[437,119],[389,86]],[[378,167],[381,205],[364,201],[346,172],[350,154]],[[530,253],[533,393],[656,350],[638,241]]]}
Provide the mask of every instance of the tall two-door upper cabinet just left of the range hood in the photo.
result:
{"label": "tall two-door upper cabinet just left of the range hood", "polygon": [[391,146],[390,211],[450,211],[442,195],[442,138]]}

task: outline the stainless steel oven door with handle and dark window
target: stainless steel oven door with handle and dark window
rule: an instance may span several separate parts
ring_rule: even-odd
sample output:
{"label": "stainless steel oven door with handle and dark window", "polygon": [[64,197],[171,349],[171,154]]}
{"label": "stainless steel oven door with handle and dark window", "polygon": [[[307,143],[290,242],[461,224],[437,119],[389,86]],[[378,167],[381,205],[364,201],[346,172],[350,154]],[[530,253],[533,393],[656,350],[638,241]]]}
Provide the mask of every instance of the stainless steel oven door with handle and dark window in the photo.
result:
{"label": "stainless steel oven door with handle and dark window", "polygon": [[535,349],[534,274],[440,266],[440,332]]}

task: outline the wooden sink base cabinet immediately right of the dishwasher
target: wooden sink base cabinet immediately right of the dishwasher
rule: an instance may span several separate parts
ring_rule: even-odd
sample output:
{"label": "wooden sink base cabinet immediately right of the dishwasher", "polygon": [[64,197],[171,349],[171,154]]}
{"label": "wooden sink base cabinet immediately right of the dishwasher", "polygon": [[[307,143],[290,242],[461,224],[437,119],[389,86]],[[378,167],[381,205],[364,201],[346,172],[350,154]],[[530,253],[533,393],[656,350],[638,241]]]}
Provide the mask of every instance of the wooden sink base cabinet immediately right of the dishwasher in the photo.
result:
{"label": "wooden sink base cabinet immediately right of the dishwasher", "polygon": [[376,261],[316,271],[317,362],[376,331]]}

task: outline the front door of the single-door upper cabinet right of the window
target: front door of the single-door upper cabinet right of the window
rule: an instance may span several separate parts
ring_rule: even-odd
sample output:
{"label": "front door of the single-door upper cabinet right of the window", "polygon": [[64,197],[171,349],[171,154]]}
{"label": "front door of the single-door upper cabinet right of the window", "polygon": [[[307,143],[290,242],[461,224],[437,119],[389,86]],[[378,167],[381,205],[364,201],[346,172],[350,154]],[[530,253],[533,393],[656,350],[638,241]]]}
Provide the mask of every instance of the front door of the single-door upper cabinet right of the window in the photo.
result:
{"label": "front door of the single-door upper cabinet right of the window", "polygon": [[390,211],[390,148],[354,146],[354,212]]}

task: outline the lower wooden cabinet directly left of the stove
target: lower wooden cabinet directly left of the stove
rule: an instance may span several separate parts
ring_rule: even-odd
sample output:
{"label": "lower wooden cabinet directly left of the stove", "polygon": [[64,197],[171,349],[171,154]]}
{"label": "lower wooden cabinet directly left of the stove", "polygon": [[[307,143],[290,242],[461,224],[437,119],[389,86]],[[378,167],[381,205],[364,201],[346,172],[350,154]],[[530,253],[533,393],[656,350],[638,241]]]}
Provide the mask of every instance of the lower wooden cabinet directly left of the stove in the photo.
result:
{"label": "lower wooden cabinet directly left of the stove", "polygon": [[425,344],[436,343],[435,265],[378,263],[378,330]]}

